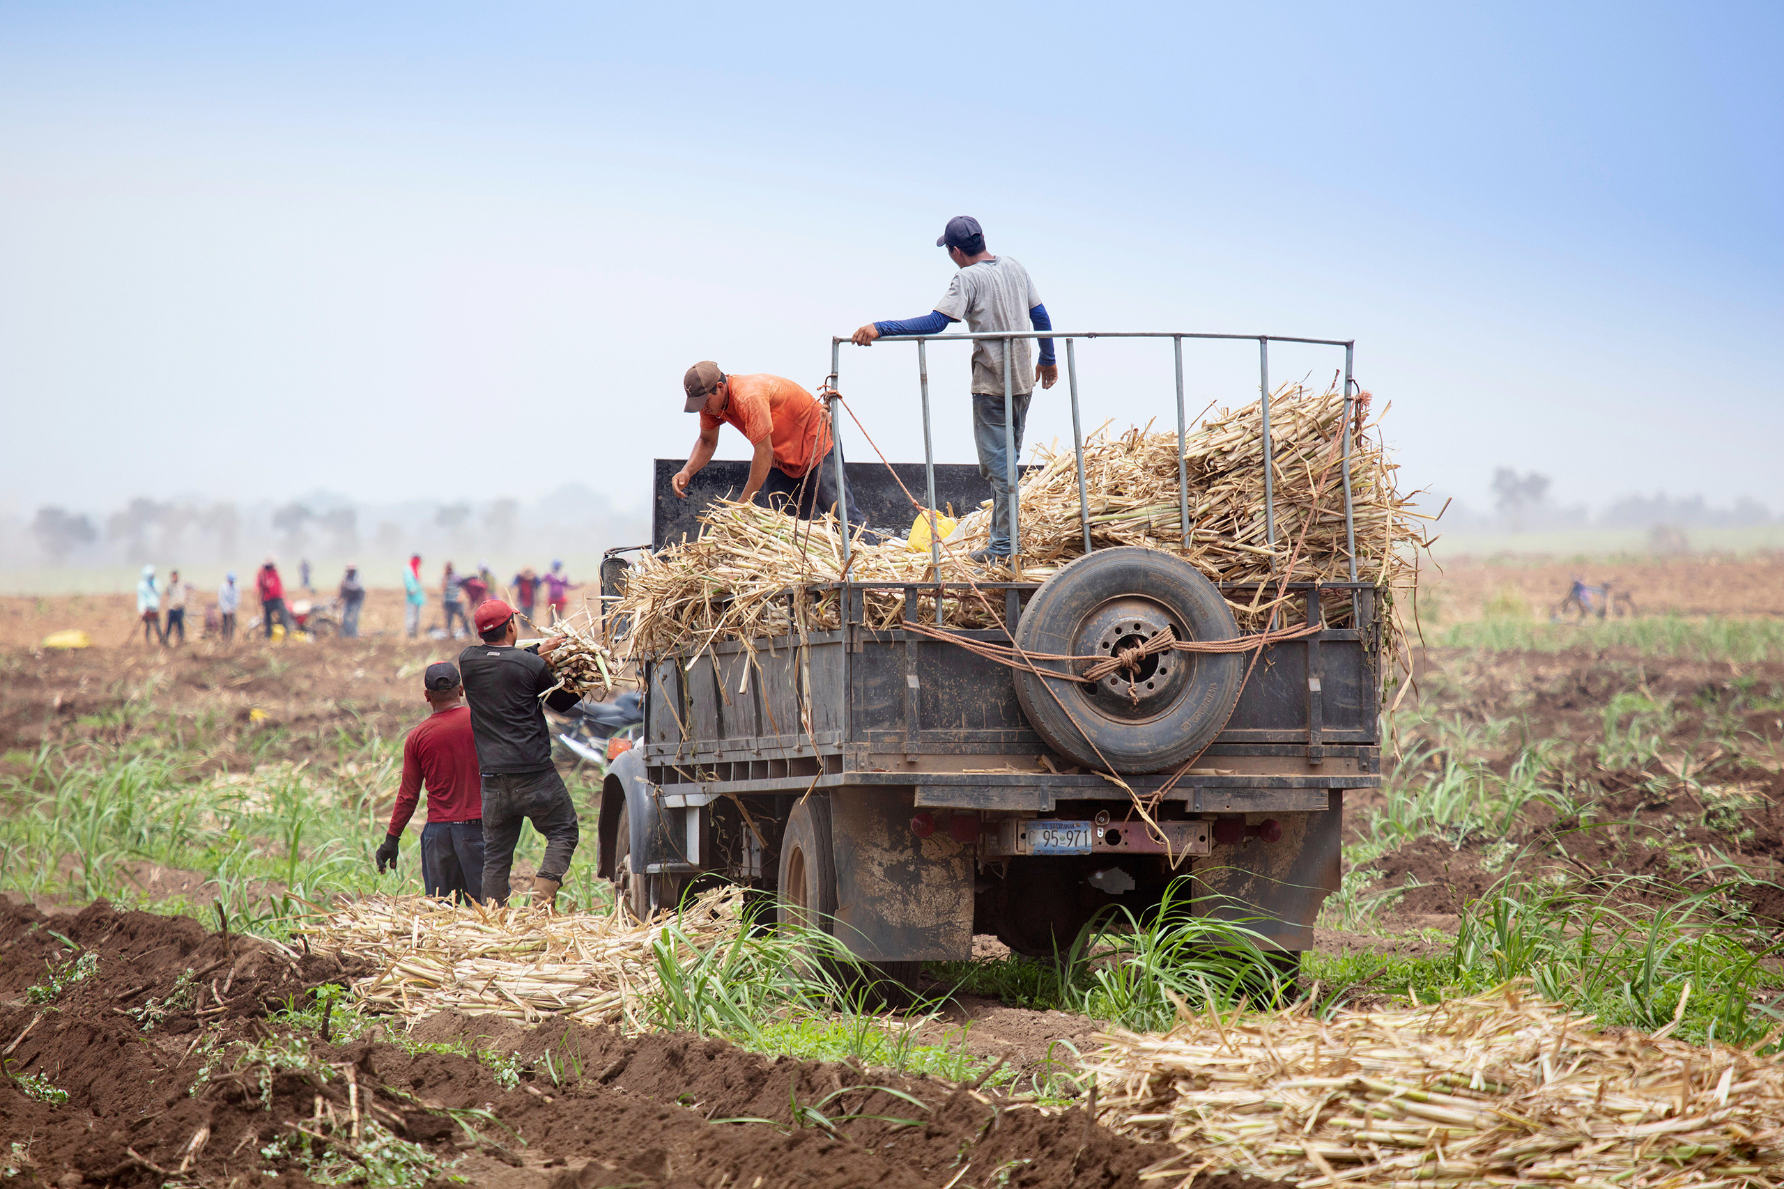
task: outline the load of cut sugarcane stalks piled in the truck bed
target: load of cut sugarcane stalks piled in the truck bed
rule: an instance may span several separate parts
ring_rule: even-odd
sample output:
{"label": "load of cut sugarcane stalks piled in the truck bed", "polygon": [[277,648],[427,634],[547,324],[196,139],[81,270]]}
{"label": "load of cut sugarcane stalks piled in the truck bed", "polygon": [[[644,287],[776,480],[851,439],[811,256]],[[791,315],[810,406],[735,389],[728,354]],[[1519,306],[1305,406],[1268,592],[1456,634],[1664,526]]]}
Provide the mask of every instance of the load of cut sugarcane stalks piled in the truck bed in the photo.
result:
{"label": "load of cut sugarcane stalks piled in the truck bed", "polygon": [[[1145,545],[1188,558],[1213,581],[1260,583],[1229,595],[1240,626],[1263,626],[1277,604],[1281,581],[1347,581],[1343,435],[1350,435],[1350,501],[1358,581],[1383,590],[1415,581],[1415,551],[1424,545],[1416,513],[1395,488],[1374,424],[1365,424],[1367,396],[1352,405],[1336,389],[1313,394],[1284,385],[1270,398],[1274,544],[1265,521],[1263,417],[1258,403],[1220,412],[1185,442],[1190,531],[1183,533],[1177,488],[1177,435],[1129,430],[1094,433],[1085,444],[1090,535],[1097,547]],[[651,654],[712,640],[797,635],[833,629],[835,594],[789,597],[790,588],[837,581],[987,581],[1045,579],[1083,553],[1083,519],[1072,449],[1038,449],[1040,465],[1020,485],[1020,553],[1015,567],[987,570],[969,553],[987,544],[988,501],[967,515],[942,545],[942,565],[928,545],[871,540],[856,533],[847,563],[838,526],[828,515],[794,521],[753,504],[719,501],[703,517],[701,535],[646,554],[628,574],[608,622],[624,624],[619,647]],[[912,508],[915,519],[917,508]],[[1270,586],[1263,586],[1268,583]],[[1284,599],[1288,603],[1288,599]],[[1327,597],[1327,622],[1342,626],[1349,601]],[[912,619],[935,615],[933,595],[919,592]],[[904,619],[897,590],[867,597],[867,624],[890,627]],[[1003,622],[997,597],[947,597],[944,624],[985,627]]]}

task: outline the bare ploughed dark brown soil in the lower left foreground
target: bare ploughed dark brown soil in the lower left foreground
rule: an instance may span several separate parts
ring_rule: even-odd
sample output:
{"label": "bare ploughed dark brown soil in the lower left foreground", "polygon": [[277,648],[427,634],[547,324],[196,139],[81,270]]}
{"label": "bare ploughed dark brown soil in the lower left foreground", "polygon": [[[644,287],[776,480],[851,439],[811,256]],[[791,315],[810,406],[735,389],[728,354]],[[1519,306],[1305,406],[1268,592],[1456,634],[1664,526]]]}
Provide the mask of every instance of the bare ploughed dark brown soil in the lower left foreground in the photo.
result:
{"label": "bare ploughed dark brown soil in the lower left foreground", "polygon": [[[77,954],[96,959],[89,977],[27,1002]],[[0,1087],[9,1168],[27,1177],[20,1184],[61,1189],[171,1178],[305,1185],[330,1162],[346,1173],[355,1162],[423,1169],[375,1184],[419,1185],[450,1171],[503,1189],[1113,1189],[1140,1185],[1161,1155],[1076,1109],[1044,1112],[970,1087],[771,1059],[721,1041],[624,1039],[580,1025],[523,1030],[446,1014],[405,1045],[378,1032],[328,1043],[314,1020],[303,1027],[277,1014],[344,973],[334,959],[293,957],[189,918],[105,904],[55,920],[0,909],[7,1059],[66,1095],[54,1103],[18,1082]],[[182,991],[182,980],[196,991]],[[466,1048],[514,1055],[512,1082]]]}

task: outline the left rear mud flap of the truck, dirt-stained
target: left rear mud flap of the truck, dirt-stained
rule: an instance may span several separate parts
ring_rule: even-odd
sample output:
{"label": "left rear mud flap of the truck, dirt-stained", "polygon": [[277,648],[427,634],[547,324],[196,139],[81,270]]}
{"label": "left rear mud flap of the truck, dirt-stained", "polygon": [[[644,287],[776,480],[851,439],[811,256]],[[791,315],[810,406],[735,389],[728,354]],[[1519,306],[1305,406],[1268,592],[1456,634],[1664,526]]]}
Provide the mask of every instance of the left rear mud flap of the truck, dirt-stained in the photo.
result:
{"label": "left rear mud flap of the truck, dirt-stained", "polygon": [[874,963],[972,957],[972,849],[910,829],[915,790],[833,795],[837,939]]}

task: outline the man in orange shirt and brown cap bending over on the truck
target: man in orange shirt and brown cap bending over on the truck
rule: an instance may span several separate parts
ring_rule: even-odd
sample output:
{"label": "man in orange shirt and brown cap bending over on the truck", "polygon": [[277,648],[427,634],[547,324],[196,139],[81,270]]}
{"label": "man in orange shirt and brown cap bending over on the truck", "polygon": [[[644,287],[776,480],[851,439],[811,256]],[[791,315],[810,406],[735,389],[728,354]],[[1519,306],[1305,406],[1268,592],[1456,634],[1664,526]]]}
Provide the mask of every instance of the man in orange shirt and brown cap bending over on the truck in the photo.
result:
{"label": "man in orange shirt and brown cap bending over on the truck", "polygon": [[[681,378],[687,412],[699,414],[699,440],[671,485],[687,497],[687,483],[712,462],[719,426],[730,422],[751,446],[749,480],[742,503],[767,494],[767,503],[801,521],[814,510],[837,513],[837,463],[830,453],[830,419],[810,392],[781,376],[728,376],[712,360],[687,369]],[[849,496],[849,528],[863,521]]]}

